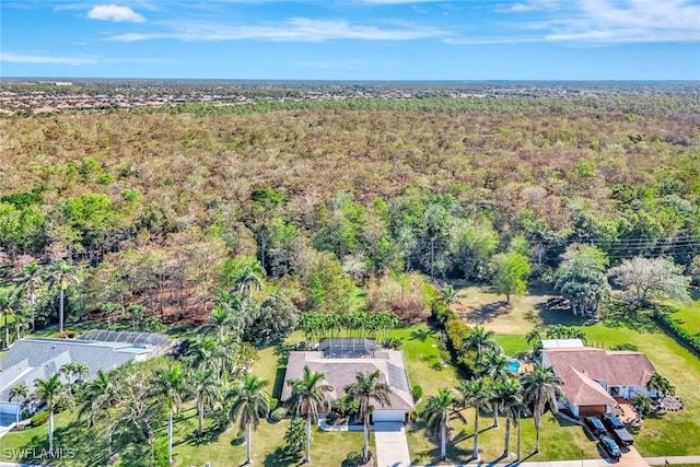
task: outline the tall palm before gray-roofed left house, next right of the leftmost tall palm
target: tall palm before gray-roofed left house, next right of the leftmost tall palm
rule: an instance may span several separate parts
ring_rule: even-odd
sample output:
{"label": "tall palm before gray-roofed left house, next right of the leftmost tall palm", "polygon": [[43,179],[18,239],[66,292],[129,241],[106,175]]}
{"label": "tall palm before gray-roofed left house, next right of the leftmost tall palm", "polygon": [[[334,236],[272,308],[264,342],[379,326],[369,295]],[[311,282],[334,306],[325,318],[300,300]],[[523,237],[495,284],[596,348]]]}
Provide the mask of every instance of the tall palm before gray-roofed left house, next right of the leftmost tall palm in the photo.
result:
{"label": "tall palm before gray-roofed left house, next right of the leftmost tall palm", "polygon": [[110,410],[119,401],[119,388],[112,381],[109,375],[102,370],[97,370],[97,376],[88,383],[82,392],[82,406],[78,412],[78,418],[88,416],[88,428],[92,429],[98,418],[106,420],[106,442],[107,458],[112,457],[112,422]]}

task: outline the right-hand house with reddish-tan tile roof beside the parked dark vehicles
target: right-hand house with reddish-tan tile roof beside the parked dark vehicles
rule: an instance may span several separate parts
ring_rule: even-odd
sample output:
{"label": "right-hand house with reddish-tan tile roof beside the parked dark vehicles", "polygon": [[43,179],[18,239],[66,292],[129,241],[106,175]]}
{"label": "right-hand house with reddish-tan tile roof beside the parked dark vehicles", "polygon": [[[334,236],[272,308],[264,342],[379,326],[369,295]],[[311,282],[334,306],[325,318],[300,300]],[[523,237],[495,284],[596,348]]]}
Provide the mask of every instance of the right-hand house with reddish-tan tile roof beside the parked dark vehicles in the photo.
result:
{"label": "right-hand house with reddish-tan tile roof beside the parked dark vehicles", "polygon": [[562,406],[575,417],[610,411],[616,397],[652,395],[646,383],[655,369],[640,352],[553,345],[542,350],[542,365],[551,366],[563,381],[567,401]]}

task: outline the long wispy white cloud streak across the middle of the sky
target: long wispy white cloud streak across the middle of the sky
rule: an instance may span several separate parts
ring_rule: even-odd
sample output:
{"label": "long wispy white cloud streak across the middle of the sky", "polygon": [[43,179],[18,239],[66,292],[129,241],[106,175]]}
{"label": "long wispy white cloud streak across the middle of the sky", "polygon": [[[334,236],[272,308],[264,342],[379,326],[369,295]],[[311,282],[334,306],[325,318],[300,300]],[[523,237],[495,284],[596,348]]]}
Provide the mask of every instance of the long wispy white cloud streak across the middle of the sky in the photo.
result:
{"label": "long wispy white cloud streak across the middle of the sky", "polygon": [[149,39],[200,40],[272,40],[272,42],[325,42],[359,40],[412,40],[441,37],[445,32],[432,27],[401,25],[382,28],[374,25],[353,24],[345,20],[310,20],[293,17],[279,24],[257,26],[226,26],[212,23],[173,25],[173,32],[112,36],[109,40],[135,42]]}

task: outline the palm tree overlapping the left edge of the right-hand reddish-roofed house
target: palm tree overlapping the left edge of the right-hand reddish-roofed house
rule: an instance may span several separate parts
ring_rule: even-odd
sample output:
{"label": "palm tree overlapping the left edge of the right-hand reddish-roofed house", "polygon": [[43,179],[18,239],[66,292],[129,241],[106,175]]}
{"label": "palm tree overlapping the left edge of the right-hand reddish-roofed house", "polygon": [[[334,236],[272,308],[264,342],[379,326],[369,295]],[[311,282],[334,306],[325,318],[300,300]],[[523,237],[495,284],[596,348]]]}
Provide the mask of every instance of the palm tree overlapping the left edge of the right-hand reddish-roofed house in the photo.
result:
{"label": "palm tree overlapping the left edge of the right-hand reddish-roofed house", "polygon": [[545,408],[549,405],[553,413],[559,412],[557,398],[563,396],[561,385],[563,382],[555,374],[551,366],[535,364],[530,373],[523,375],[523,398],[533,406],[533,419],[535,420],[535,452],[539,453],[539,429]]}

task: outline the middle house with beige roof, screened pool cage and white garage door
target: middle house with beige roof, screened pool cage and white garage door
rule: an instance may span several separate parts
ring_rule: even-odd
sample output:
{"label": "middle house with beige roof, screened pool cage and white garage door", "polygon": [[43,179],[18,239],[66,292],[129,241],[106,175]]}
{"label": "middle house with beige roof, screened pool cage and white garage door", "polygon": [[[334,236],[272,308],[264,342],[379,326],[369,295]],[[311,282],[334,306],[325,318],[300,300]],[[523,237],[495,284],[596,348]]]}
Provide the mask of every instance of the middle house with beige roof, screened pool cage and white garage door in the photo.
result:
{"label": "middle house with beige roof, screened pool cage and white garage door", "polygon": [[[342,340],[341,340],[342,339]],[[375,406],[372,419],[381,421],[406,421],[416,408],[411,396],[404,354],[398,350],[376,350],[374,340],[364,338],[336,338],[320,341],[319,350],[292,351],[289,354],[284,386],[280,400],[289,400],[292,388],[289,382],[300,380],[304,366],[312,372],[322,372],[325,382],[334,387],[327,396],[331,405],[345,395],[345,387],[357,382],[355,374],[380,371],[380,382],[390,388],[389,405]]]}

